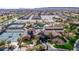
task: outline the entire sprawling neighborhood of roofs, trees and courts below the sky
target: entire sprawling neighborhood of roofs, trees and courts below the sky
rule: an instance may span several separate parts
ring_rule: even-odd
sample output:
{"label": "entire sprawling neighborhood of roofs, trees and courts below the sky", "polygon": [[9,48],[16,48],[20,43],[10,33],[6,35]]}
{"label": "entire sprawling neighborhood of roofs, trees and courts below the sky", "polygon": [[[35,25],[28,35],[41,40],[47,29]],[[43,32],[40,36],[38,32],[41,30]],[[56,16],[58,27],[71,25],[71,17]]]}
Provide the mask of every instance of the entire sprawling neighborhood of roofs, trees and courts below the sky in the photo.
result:
{"label": "entire sprawling neighborhood of roofs, trees and courts below the sky", "polygon": [[79,51],[79,8],[0,9],[0,51]]}

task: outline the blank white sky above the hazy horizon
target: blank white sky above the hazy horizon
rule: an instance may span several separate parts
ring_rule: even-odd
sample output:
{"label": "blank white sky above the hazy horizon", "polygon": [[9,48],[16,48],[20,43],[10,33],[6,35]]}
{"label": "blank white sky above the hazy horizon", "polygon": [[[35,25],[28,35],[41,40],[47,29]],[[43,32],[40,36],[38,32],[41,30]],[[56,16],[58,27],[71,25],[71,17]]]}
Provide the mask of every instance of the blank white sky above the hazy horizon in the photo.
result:
{"label": "blank white sky above the hazy horizon", "polygon": [[0,0],[0,8],[79,7],[78,0]]}

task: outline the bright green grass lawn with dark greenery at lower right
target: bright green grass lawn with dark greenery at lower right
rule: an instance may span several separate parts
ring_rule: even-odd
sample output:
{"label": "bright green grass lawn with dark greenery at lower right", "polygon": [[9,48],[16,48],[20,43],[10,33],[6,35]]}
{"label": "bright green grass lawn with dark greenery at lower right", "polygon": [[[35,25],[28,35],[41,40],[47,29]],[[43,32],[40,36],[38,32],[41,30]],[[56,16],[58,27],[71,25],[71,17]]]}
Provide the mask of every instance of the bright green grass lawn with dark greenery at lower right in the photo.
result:
{"label": "bright green grass lawn with dark greenery at lower right", "polygon": [[55,48],[62,48],[62,49],[67,49],[67,50],[73,50],[74,48],[74,44],[76,42],[76,40],[78,39],[79,37],[78,36],[72,36],[72,37],[69,37],[68,40],[69,42],[64,44],[64,45],[57,45],[55,44],[54,47]]}

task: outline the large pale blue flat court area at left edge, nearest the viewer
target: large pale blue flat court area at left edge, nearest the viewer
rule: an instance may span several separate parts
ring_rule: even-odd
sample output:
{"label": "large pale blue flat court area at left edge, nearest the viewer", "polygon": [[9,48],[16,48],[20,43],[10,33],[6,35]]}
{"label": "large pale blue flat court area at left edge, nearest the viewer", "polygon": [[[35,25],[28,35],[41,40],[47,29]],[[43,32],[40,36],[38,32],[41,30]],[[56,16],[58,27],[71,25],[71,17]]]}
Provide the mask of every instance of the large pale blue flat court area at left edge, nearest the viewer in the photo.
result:
{"label": "large pale blue flat court area at left edge, nearest the viewer", "polygon": [[0,40],[17,41],[17,39],[20,37],[20,34],[20,32],[4,32],[2,35],[0,35]]}

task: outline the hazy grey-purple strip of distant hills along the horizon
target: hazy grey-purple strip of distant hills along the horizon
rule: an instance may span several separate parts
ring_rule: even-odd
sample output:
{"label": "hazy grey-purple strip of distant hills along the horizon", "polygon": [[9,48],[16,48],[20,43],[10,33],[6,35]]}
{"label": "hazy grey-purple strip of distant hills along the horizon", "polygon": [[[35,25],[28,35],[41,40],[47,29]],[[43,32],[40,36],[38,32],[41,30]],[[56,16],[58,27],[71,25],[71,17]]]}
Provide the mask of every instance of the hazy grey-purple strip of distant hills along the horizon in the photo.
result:
{"label": "hazy grey-purple strip of distant hills along the horizon", "polygon": [[0,11],[75,11],[79,12],[79,7],[40,7],[40,8],[17,8],[17,9],[0,9]]}

